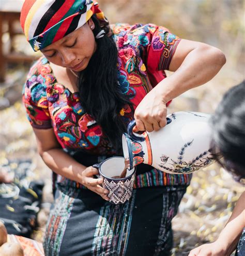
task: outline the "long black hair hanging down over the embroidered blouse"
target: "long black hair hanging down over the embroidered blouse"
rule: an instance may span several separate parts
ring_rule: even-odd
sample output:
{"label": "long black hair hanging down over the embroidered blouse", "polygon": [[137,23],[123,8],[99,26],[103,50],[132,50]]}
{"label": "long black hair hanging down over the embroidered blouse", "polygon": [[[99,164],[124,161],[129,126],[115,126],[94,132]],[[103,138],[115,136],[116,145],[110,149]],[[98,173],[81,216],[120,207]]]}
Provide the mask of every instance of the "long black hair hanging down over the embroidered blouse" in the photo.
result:
{"label": "long black hair hanging down over the embroidered blouse", "polygon": [[[93,33],[98,35],[101,27],[96,16]],[[106,28],[103,28],[106,30]],[[120,117],[120,110],[132,104],[129,96],[123,94],[118,83],[118,50],[112,37],[105,31],[102,38],[96,39],[97,50],[88,66],[80,73],[79,94],[83,108],[102,127],[114,148],[121,153],[121,135],[126,132],[126,124]]]}

